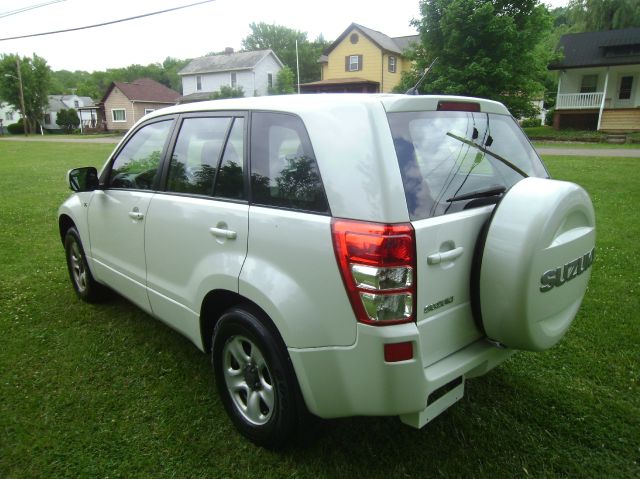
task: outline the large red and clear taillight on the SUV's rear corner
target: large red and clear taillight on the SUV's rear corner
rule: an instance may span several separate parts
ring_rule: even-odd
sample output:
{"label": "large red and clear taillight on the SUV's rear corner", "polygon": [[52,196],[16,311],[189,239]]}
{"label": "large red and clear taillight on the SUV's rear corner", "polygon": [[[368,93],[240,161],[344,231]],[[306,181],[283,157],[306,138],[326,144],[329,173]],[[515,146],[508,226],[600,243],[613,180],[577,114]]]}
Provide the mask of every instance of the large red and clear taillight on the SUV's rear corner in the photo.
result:
{"label": "large red and clear taillight on the SUV's rear corner", "polygon": [[413,226],[334,218],[331,231],[340,273],[358,321],[377,326],[415,321]]}

